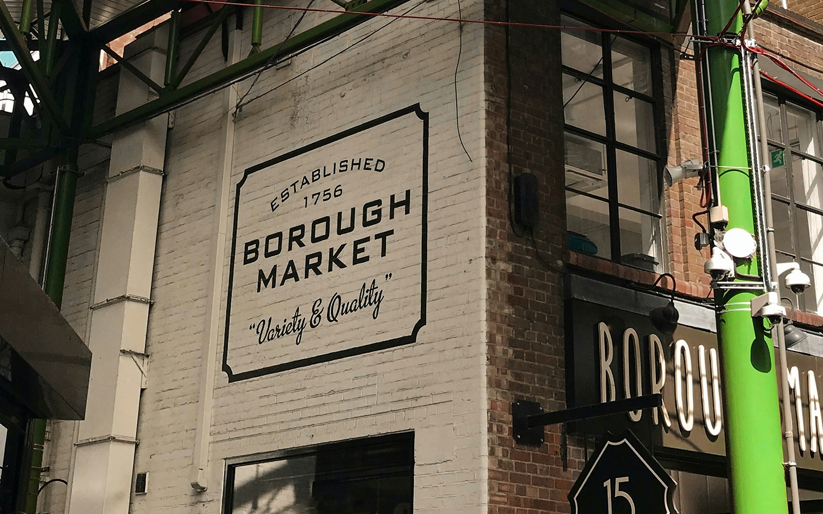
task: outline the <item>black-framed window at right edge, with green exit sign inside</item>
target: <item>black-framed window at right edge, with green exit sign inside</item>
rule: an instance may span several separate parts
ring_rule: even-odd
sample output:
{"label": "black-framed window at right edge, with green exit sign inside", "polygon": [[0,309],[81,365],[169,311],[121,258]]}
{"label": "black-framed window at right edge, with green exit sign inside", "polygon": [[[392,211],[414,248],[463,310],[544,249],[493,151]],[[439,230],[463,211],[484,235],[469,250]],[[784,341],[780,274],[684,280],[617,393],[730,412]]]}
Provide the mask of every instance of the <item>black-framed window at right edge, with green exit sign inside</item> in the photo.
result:
{"label": "black-framed window at right edge, with green exit sign inside", "polygon": [[823,314],[823,112],[765,95],[771,162],[774,247],[778,262],[797,262],[811,287],[780,293],[808,313]]}

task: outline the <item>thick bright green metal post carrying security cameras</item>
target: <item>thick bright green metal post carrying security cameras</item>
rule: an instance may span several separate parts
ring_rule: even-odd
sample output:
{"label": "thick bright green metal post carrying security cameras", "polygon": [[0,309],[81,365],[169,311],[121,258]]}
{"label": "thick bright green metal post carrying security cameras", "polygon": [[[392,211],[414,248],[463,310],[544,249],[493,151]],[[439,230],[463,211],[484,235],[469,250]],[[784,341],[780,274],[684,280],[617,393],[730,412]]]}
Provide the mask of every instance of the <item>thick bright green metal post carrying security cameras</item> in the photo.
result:
{"label": "thick bright green metal post carrying security cameras", "polygon": [[[742,28],[737,0],[695,0],[697,26],[706,35],[718,35],[735,16],[729,34]],[[713,126],[718,186],[728,207],[728,229],[755,234],[756,209],[752,198],[751,158],[747,145],[742,72],[737,49],[713,47],[705,53],[711,80],[700,84],[713,99],[709,123]],[[767,200],[768,201],[768,200]],[[762,248],[760,248],[762,250]],[[737,271],[759,275],[757,258]],[[736,280],[740,282],[741,280]],[[774,346],[765,320],[752,317],[751,299],[758,289],[715,289],[718,345],[724,377],[726,451],[731,482],[732,512],[778,514],[787,512],[780,433]]]}

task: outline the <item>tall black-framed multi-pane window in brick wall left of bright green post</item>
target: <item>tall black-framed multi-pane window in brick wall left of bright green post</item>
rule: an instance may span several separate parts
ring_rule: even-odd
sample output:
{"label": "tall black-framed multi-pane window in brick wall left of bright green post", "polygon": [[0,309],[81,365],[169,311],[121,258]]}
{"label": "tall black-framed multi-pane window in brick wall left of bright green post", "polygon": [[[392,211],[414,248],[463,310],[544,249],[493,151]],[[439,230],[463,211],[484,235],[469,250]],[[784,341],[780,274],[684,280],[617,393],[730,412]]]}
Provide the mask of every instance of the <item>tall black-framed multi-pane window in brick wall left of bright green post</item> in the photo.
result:
{"label": "tall black-framed multi-pane window in brick wall left of bright green post", "polygon": [[658,48],[570,16],[563,25],[569,248],[663,271]]}

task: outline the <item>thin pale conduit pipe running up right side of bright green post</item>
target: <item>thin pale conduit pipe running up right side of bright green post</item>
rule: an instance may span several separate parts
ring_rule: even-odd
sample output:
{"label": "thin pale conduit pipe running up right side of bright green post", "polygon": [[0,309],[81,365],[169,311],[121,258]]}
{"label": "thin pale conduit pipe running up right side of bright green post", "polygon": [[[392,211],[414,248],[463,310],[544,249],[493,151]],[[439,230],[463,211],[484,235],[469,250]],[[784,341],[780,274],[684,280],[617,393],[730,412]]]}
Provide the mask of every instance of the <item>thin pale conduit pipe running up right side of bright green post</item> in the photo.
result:
{"label": "thin pale conduit pipe running up right side of bright green post", "polygon": [[[749,2],[743,2],[743,14],[746,16],[751,16],[751,7],[749,6]],[[785,2],[783,3],[785,6]],[[748,22],[748,34],[752,41],[755,39],[755,30],[754,24],[750,20]],[[761,160],[765,158],[766,155],[769,154],[769,142],[766,140],[766,118],[765,118],[765,109],[763,107],[763,86],[760,82],[760,63],[758,63],[757,56],[753,57],[753,63],[751,67],[751,75],[752,81],[754,82],[754,90],[755,90],[755,106],[756,106],[756,114],[757,114],[757,128],[758,132],[760,132],[760,145],[753,146],[753,149],[760,150]],[[770,262],[770,276],[773,277],[773,280],[778,280],[777,275],[777,255],[774,252],[774,217],[772,215],[772,207],[771,207],[771,180],[769,177],[770,173],[770,166],[763,165],[762,168],[763,177],[763,196],[765,197],[764,201],[764,214],[765,214],[765,232],[766,232],[766,247],[769,249],[769,262]],[[777,285],[775,282],[768,282],[767,285],[770,287],[771,290],[777,289]],[[787,380],[787,373],[788,373],[788,364],[786,359],[786,340],[783,336],[783,318],[780,321],[772,326],[772,331],[774,332],[774,336],[777,337],[778,342],[778,360],[779,360],[779,373],[778,377],[780,380],[780,394],[783,396],[783,401],[781,401],[781,407],[783,409],[783,438],[786,440],[786,457],[787,457],[787,466],[788,466],[788,485],[789,490],[792,495],[791,502],[792,502],[792,512],[793,514],[800,514],[800,496],[799,491],[797,488],[797,459],[794,452],[794,422],[792,419],[792,405],[790,399],[790,392],[788,391],[788,380]]]}

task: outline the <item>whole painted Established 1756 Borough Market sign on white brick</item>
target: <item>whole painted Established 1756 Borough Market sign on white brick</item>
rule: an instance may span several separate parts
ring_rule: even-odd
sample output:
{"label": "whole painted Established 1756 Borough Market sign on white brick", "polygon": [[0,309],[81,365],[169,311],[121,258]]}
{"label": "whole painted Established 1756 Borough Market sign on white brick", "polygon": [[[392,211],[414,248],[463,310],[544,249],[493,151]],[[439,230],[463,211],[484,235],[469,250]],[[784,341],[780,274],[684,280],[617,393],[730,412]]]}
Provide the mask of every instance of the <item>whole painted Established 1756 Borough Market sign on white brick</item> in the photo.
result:
{"label": "whole painted Established 1756 Borough Market sign on white brick", "polygon": [[230,382],[404,345],[425,325],[428,114],[419,105],[246,169]]}

